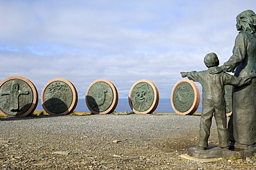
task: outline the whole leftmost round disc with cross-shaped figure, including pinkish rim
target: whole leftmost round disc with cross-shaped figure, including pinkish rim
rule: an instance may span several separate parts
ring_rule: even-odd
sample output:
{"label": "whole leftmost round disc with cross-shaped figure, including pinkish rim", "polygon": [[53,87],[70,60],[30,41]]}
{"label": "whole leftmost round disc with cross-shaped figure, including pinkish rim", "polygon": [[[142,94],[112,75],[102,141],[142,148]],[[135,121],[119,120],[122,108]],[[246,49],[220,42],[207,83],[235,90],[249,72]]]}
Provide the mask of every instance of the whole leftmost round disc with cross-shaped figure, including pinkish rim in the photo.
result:
{"label": "whole leftmost round disc with cross-shaped figure, including pinkish rim", "polygon": [[1,115],[26,116],[35,111],[37,102],[37,89],[28,79],[12,76],[0,83]]}

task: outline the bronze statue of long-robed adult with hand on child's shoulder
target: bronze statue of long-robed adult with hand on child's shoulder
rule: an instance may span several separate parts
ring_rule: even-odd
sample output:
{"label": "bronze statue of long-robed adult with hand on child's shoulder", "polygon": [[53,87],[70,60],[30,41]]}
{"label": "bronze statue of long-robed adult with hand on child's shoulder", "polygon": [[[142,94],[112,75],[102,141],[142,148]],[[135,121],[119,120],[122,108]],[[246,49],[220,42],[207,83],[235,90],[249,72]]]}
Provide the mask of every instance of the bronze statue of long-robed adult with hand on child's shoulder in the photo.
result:
{"label": "bronze statue of long-robed adult with hand on child's shoulder", "polygon": [[[233,55],[223,66],[211,68],[210,73],[234,72],[237,77],[256,75],[256,15],[245,10],[237,15],[237,30]],[[231,146],[248,149],[256,147],[256,79],[246,86],[233,87],[232,115],[228,122]]]}

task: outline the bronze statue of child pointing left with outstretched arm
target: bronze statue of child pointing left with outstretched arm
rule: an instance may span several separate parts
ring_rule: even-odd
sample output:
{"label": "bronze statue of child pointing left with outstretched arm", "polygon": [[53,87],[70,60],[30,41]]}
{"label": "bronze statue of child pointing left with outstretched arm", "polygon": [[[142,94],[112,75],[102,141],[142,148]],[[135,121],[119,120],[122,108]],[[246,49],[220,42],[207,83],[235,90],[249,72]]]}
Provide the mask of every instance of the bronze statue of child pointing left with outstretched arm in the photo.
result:
{"label": "bronze statue of child pointing left with outstretched arm", "polygon": [[229,149],[230,142],[226,127],[227,117],[224,86],[226,84],[243,86],[244,84],[250,83],[251,78],[239,78],[224,72],[215,75],[210,74],[210,68],[219,66],[219,59],[215,53],[205,55],[203,62],[205,63],[205,66],[208,67],[208,70],[181,73],[181,77],[188,77],[188,79],[193,80],[194,82],[199,82],[203,87],[203,108],[197,148],[205,150],[205,148],[208,147],[210,126],[212,125],[212,117],[214,115],[219,138],[218,147],[221,149]]}

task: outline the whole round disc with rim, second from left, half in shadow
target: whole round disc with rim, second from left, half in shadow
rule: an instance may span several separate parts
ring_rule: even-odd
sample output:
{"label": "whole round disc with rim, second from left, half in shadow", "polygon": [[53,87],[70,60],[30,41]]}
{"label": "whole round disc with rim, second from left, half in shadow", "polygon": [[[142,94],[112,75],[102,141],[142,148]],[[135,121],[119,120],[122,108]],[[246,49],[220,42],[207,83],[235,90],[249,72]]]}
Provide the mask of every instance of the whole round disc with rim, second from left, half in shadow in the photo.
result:
{"label": "whole round disc with rim, second from left, half in shadow", "polygon": [[77,105],[75,86],[66,79],[52,79],[44,85],[41,93],[44,110],[51,115],[66,115]]}

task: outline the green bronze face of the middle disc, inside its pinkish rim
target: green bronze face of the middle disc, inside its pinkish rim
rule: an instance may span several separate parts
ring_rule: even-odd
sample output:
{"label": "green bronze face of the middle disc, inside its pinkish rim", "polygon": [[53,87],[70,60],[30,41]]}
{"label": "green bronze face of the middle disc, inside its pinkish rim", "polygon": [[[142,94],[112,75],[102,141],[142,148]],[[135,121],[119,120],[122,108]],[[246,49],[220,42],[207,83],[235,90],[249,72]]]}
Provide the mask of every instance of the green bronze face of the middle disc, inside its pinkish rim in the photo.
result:
{"label": "green bronze face of the middle disc, inside its pinkish rim", "polygon": [[113,102],[111,86],[105,82],[96,82],[89,88],[87,102],[95,112],[104,112]]}

